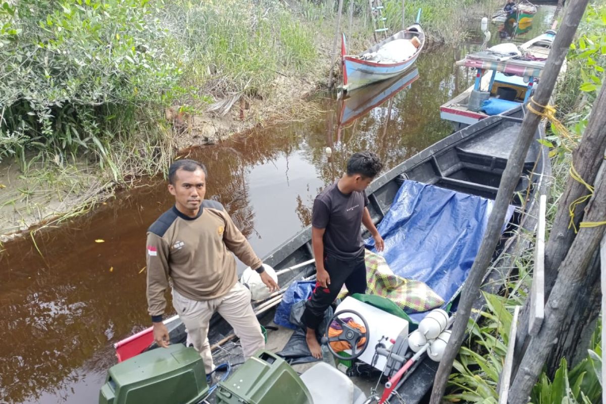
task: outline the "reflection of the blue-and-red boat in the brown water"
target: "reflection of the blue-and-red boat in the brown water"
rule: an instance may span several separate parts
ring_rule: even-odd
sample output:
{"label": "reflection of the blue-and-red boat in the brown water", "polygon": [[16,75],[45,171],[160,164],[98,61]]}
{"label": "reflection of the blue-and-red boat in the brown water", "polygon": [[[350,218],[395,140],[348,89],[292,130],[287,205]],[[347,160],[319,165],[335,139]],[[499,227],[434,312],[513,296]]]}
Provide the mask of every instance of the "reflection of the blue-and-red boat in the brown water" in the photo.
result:
{"label": "reflection of the blue-and-red boat in the brown water", "polygon": [[413,68],[401,76],[387,79],[373,85],[349,91],[341,100],[339,125],[346,126],[367,114],[378,105],[392,98],[419,78],[419,70]]}

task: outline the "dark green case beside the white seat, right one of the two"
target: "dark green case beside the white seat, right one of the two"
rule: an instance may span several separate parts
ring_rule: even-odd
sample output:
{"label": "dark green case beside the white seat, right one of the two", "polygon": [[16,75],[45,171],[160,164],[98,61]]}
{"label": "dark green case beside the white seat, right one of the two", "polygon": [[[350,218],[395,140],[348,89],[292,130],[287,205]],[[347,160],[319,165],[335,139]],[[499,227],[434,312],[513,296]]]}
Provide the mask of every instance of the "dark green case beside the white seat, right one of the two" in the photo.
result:
{"label": "dark green case beside the white seat, right one of the two", "polygon": [[217,404],[312,404],[301,378],[281,357],[259,351],[216,390]]}

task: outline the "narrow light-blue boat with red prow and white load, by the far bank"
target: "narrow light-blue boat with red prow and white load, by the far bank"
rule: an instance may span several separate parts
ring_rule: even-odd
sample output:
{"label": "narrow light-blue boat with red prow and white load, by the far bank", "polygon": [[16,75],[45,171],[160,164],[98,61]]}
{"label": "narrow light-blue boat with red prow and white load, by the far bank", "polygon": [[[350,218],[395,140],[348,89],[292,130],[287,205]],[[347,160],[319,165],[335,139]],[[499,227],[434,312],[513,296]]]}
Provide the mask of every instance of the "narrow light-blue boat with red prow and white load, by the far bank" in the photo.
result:
{"label": "narrow light-blue boat with red prow and white load, by the far bank", "polygon": [[[376,52],[380,51],[381,48],[384,48],[390,42],[399,39],[410,41],[413,38],[417,38],[419,41],[415,53],[401,61],[384,63],[381,61],[364,60],[368,55],[376,54]],[[415,63],[424,45],[425,33],[420,24],[413,24],[391,35],[389,38],[363,51],[359,56],[347,55],[345,35],[343,35],[341,42],[342,90],[350,91],[354,88],[363,87],[364,85],[400,75]]]}

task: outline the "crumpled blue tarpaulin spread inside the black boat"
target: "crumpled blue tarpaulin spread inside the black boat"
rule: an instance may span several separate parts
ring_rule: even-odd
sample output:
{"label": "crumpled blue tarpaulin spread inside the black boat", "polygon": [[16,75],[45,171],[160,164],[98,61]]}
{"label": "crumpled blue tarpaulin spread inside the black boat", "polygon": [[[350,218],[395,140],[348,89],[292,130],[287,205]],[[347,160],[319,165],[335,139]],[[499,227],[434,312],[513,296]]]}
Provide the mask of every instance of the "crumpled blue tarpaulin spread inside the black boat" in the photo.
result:
{"label": "crumpled blue tarpaulin spread inside the black boat", "polygon": [[[379,254],[393,273],[425,282],[448,303],[467,279],[492,207],[490,199],[406,180],[378,226]],[[512,213],[510,206],[506,223]],[[374,244],[366,242],[376,252]]]}

